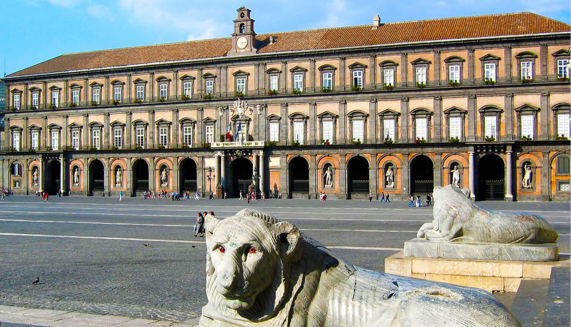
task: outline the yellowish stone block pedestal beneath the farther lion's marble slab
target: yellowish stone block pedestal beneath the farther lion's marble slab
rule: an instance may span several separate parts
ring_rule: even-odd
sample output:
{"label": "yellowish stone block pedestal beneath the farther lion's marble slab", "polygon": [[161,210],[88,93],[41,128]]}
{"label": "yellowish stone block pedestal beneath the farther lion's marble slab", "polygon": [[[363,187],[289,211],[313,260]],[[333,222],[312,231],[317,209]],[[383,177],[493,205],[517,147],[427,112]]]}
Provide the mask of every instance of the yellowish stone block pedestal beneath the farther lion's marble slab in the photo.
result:
{"label": "yellowish stone block pedestal beneath the farther lion's marble slab", "polygon": [[549,279],[552,267],[570,267],[569,257],[530,262],[405,257],[385,259],[385,273],[476,287],[488,292],[517,292],[524,279]]}

